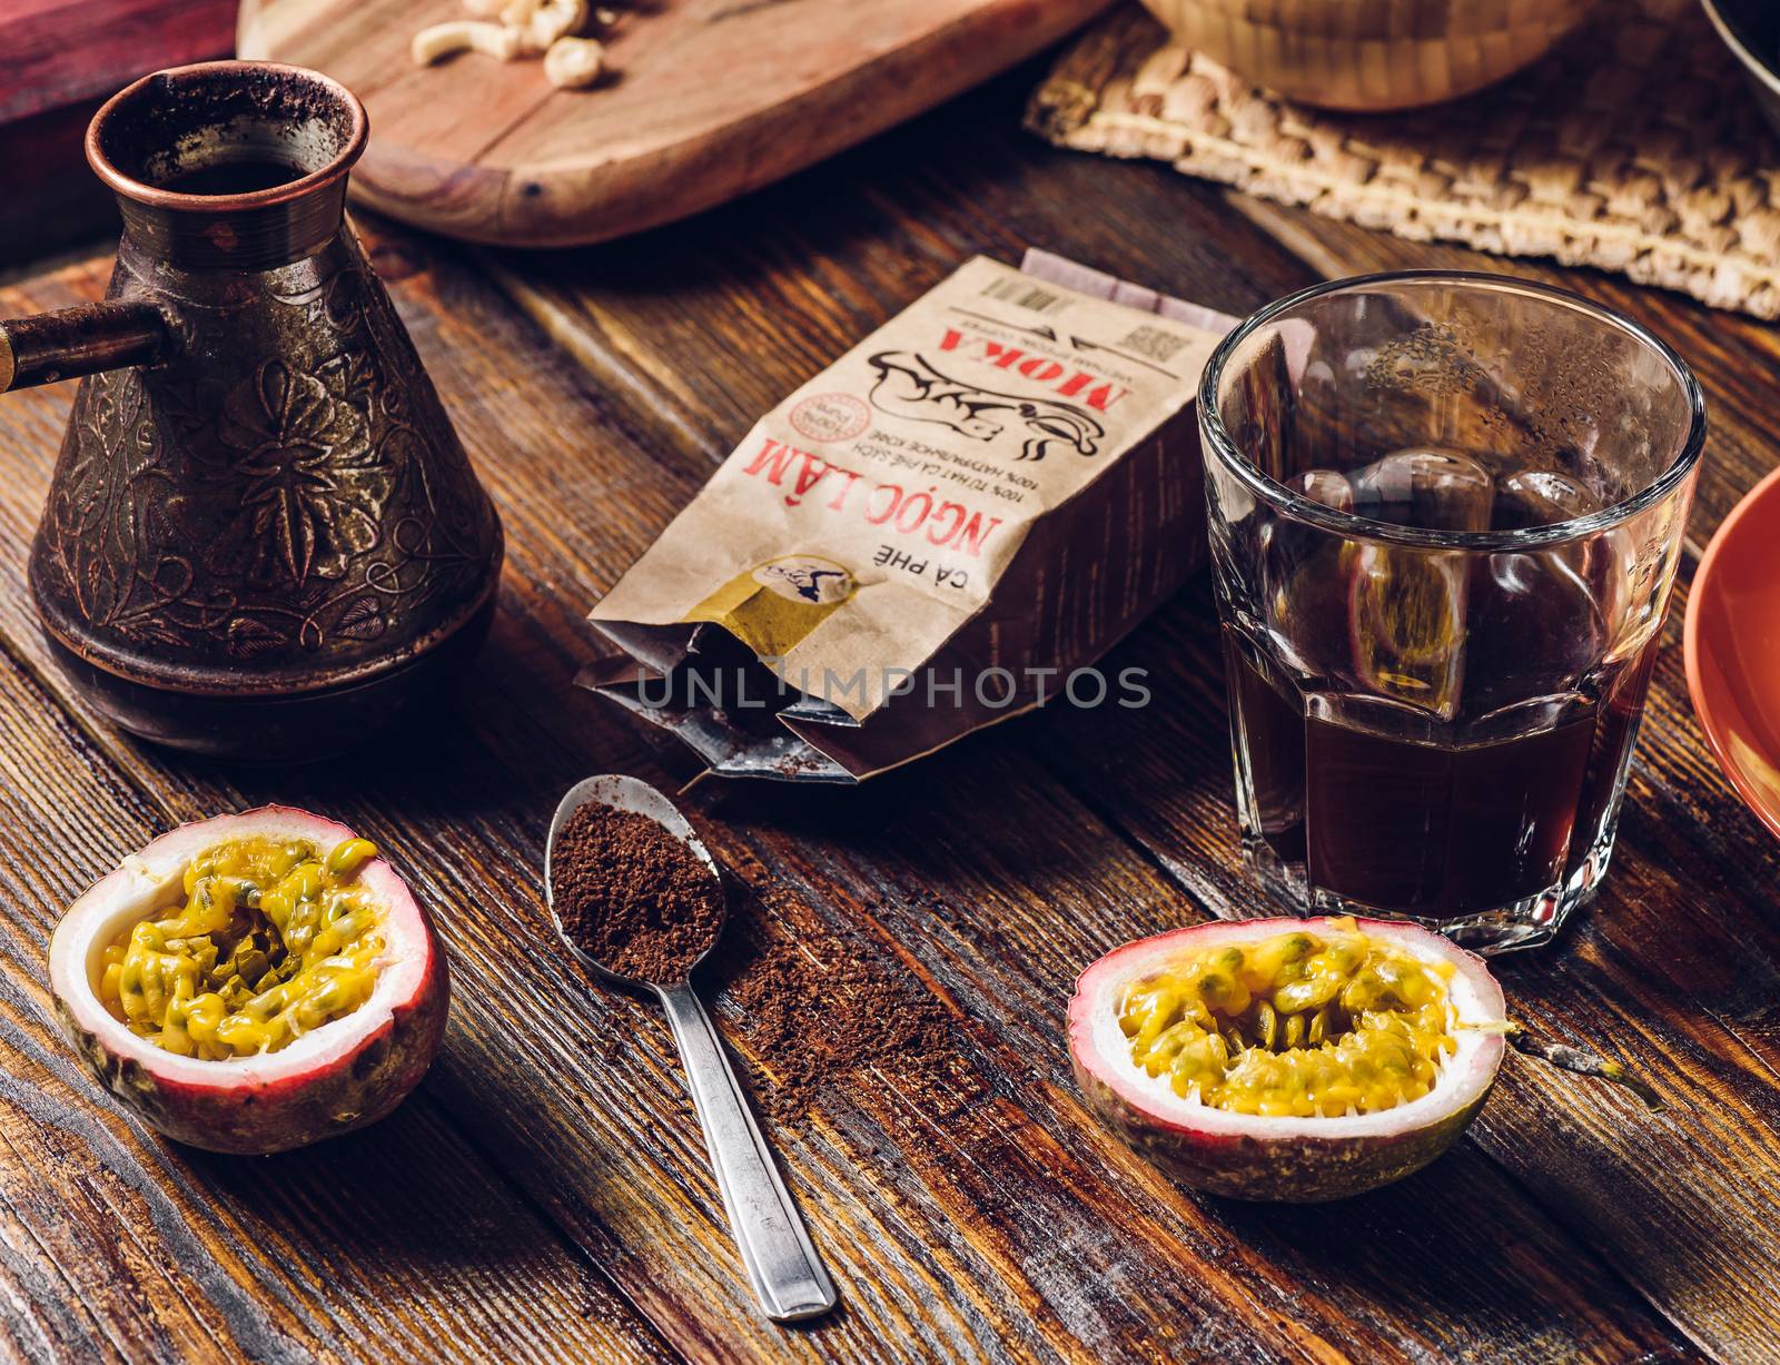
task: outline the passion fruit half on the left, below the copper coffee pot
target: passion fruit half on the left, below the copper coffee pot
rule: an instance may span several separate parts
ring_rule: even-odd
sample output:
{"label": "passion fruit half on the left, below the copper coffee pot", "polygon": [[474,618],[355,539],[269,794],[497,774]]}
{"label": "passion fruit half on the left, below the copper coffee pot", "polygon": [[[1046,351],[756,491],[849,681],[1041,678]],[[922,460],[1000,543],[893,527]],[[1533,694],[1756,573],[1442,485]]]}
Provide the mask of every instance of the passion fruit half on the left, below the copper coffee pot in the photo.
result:
{"label": "passion fruit half on the left, below the copper coffee pot", "polygon": [[50,938],[62,1032],[169,1137],[269,1153],[388,1114],[445,1034],[433,925],[376,849],[290,806],[183,824]]}

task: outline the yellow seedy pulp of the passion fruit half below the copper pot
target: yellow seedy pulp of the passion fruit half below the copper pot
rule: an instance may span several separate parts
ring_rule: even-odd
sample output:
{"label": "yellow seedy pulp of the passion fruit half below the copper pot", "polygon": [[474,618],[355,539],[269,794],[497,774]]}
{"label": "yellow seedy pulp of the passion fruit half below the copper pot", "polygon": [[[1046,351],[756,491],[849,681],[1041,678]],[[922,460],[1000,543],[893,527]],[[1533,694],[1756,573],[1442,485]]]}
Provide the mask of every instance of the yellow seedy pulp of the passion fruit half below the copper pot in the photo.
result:
{"label": "yellow seedy pulp of the passion fruit half below the copper pot", "polygon": [[354,883],[377,856],[349,838],[240,838],[185,870],[185,904],[105,947],[100,1000],[141,1038],[185,1057],[265,1052],[352,1013],[384,954],[383,911]]}

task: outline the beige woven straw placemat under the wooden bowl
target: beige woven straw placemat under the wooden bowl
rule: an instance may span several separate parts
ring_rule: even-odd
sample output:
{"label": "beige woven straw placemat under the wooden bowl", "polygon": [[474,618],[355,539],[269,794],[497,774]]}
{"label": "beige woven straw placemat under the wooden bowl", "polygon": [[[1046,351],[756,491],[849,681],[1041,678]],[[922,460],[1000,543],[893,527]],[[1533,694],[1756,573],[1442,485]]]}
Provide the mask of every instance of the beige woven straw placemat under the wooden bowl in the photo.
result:
{"label": "beige woven straw placemat under the wooden bowl", "polygon": [[1780,148],[1698,0],[1611,0],[1502,85],[1371,116],[1258,91],[1130,5],[1057,62],[1027,123],[1412,240],[1780,317]]}

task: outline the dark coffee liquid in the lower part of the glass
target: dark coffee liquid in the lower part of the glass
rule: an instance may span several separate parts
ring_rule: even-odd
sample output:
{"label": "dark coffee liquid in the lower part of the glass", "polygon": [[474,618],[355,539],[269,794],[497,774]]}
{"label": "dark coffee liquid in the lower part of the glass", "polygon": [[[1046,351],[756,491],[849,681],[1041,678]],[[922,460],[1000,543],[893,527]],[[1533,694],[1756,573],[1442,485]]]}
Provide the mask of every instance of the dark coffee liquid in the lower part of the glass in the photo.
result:
{"label": "dark coffee liquid in the lower part of the glass", "polygon": [[1602,703],[1468,746],[1326,721],[1290,682],[1269,682],[1232,634],[1225,657],[1273,852],[1347,901],[1456,918],[1581,868],[1638,733],[1655,642],[1609,669]]}

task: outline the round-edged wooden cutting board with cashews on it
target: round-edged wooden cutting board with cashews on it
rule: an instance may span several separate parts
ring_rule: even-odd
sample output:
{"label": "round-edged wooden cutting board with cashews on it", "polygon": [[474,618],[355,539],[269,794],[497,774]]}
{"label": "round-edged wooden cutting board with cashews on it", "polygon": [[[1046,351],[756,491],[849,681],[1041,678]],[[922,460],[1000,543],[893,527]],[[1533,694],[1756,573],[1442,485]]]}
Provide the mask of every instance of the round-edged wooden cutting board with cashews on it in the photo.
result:
{"label": "round-edged wooden cutting board with cashews on it", "polygon": [[[607,0],[612,73],[538,59],[429,69],[413,34],[459,0],[242,0],[242,57],[324,71],[370,110],[356,198],[509,246],[637,231],[746,194],[1056,41],[1105,0]],[[783,205],[794,214],[796,205]]]}

